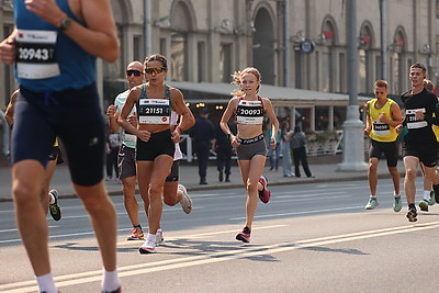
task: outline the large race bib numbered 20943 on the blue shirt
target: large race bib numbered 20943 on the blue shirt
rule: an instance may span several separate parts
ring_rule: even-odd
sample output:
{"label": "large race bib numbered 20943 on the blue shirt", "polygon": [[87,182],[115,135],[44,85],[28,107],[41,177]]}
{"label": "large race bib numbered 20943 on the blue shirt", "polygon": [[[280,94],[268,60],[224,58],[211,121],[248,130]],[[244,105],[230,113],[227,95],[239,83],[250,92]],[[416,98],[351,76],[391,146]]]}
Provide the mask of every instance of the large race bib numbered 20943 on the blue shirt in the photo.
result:
{"label": "large race bib numbered 20943 on the blue shirt", "polygon": [[19,78],[44,79],[60,75],[56,59],[55,31],[18,30],[16,72]]}

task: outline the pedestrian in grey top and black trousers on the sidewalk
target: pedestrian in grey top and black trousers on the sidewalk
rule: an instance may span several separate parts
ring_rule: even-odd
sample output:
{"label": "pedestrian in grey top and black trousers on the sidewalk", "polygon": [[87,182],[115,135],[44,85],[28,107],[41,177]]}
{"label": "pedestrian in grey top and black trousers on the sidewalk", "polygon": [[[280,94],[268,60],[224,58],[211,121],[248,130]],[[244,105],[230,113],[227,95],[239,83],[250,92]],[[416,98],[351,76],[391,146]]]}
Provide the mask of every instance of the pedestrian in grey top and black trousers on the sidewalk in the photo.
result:
{"label": "pedestrian in grey top and black trousers on the sidewalk", "polygon": [[294,133],[290,142],[290,147],[291,151],[293,153],[295,177],[301,177],[301,164],[306,177],[314,177],[309,171],[308,159],[306,157],[306,136],[299,125],[294,127]]}

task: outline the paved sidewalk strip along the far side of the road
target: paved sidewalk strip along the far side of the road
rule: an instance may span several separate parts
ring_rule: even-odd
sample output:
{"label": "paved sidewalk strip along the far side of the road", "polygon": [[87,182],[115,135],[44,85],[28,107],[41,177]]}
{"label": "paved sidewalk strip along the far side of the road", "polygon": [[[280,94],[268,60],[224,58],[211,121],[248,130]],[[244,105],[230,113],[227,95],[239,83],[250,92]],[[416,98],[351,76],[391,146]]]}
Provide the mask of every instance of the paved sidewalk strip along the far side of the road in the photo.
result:
{"label": "paved sidewalk strip along the far side of the road", "polygon": [[[338,171],[338,164],[341,161],[340,156],[322,156],[308,157],[309,169],[315,178],[306,178],[303,174],[301,178],[283,177],[282,167],[278,171],[270,171],[266,167],[264,176],[269,180],[269,185],[277,184],[300,184],[300,183],[317,183],[317,182],[334,182],[334,181],[350,181],[350,180],[368,180],[368,171]],[[293,168],[294,169],[294,168]],[[404,176],[404,165],[402,160],[398,161],[398,170]],[[385,160],[380,162],[379,178],[390,178]],[[200,185],[200,178],[198,174],[198,166],[195,164],[182,162],[180,165],[180,182],[184,184],[188,191],[194,190],[217,190],[227,188],[244,188],[239,168],[234,165],[232,167],[230,182],[219,182],[218,172],[214,162],[207,168],[207,185]],[[105,181],[106,189],[110,195],[122,195],[122,183],[119,181]],[[380,182],[379,182],[380,184]],[[58,166],[54,178],[52,179],[50,189],[54,188],[58,191],[60,198],[75,196],[74,188],[70,183],[70,176],[67,166]],[[0,202],[11,201],[11,168],[0,167]]]}

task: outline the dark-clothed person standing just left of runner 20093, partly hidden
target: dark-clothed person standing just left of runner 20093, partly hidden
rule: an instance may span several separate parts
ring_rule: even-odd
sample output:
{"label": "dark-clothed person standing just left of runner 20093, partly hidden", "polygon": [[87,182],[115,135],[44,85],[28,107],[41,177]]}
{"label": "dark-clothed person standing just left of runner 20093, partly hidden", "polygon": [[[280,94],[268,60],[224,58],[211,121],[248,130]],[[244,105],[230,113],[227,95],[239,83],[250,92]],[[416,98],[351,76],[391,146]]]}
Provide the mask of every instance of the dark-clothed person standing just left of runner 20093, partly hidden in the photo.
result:
{"label": "dark-clothed person standing just left of runner 20093, partly hidden", "polygon": [[[228,128],[233,135],[236,135],[236,125],[233,122],[227,123]],[[214,151],[216,153],[216,169],[218,170],[218,180],[223,182],[224,174],[226,176],[226,182],[230,182],[230,165],[233,146],[230,139],[223,132],[219,124],[215,128],[215,139],[213,143]]]}

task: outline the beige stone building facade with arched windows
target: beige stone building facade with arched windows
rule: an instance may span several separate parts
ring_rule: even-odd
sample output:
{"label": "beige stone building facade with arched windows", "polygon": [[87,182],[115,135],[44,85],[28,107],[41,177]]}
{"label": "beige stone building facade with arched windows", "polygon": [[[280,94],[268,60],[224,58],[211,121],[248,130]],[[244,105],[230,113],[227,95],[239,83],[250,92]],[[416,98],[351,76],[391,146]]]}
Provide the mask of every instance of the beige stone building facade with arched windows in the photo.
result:
{"label": "beige stone building facade with arched windows", "polygon": [[[169,82],[185,82],[191,103],[209,95],[191,84],[229,83],[233,71],[247,66],[261,71],[264,84],[312,91],[318,99],[307,102],[295,91],[291,99],[270,98],[278,115],[300,119],[313,131],[339,128],[346,117],[349,42],[358,47],[360,94],[371,93],[376,79],[386,79],[392,94],[407,90],[408,66],[415,61],[426,64],[428,77],[438,80],[438,0],[357,0],[353,41],[347,38],[348,1],[111,0],[121,56],[114,64],[99,61],[104,105],[125,89],[126,64],[150,53],[168,58]],[[11,2],[0,0],[1,40],[13,29]],[[4,109],[18,86],[11,67],[0,66],[0,80]],[[325,93],[345,94],[346,101],[325,103]],[[211,93],[201,102],[217,108],[228,98]]]}

